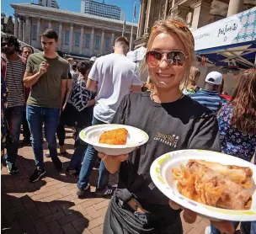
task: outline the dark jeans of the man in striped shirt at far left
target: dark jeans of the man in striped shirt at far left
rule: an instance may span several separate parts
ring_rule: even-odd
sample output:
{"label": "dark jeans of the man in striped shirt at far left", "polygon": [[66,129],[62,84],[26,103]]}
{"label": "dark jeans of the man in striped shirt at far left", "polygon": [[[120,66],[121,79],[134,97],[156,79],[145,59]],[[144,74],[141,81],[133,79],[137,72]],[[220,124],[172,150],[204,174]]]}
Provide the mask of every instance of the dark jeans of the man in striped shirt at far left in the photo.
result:
{"label": "dark jeans of the man in striped shirt at far left", "polygon": [[6,109],[5,116],[8,124],[11,142],[7,144],[5,155],[6,163],[13,165],[16,162],[19,149],[20,125],[22,123],[24,106],[14,106]]}

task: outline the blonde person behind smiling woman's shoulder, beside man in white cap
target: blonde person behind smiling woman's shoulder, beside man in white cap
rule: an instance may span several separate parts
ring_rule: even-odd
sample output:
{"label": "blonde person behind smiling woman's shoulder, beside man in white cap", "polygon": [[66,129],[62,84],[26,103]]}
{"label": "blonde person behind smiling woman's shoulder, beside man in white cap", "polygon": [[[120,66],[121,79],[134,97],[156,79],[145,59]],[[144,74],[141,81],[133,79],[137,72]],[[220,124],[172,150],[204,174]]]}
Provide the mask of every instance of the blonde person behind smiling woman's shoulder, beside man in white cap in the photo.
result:
{"label": "blonde person behind smiling woman's shoulder, beside man in white cap", "polygon": [[196,85],[198,82],[198,79],[200,77],[200,71],[197,67],[191,66],[190,71],[189,71],[189,78],[188,81],[185,82],[184,88],[183,88],[183,93],[185,95],[188,94],[195,94],[197,91],[200,90],[200,87]]}

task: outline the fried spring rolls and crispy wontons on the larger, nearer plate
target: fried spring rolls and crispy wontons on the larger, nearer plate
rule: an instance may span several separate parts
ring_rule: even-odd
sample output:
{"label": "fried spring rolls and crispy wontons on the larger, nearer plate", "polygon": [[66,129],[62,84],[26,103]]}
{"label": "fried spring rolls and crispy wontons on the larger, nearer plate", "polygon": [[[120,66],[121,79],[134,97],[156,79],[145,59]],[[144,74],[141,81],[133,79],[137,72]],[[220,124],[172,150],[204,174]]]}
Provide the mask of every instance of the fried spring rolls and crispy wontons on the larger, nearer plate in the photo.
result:
{"label": "fried spring rolls and crispy wontons on the larger, nearer plate", "polygon": [[255,189],[250,168],[189,160],[172,173],[179,193],[196,202],[229,210],[248,210],[252,205]]}

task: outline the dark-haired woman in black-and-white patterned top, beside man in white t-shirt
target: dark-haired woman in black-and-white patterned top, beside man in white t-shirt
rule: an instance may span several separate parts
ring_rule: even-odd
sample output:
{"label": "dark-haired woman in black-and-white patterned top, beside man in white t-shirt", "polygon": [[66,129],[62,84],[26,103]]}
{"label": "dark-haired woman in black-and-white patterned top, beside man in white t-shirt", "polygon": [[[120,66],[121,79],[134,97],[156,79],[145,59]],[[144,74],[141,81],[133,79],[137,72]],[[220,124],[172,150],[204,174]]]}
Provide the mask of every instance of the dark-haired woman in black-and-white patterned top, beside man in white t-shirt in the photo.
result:
{"label": "dark-haired woman in black-and-white patterned top, beside man in white t-shirt", "polygon": [[67,175],[78,177],[87,145],[77,136],[80,130],[91,125],[93,120],[93,105],[95,104],[95,95],[86,88],[88,73],[93,66],[92,61],[80,61],[77,64],[79,76],[74,78],[72,91],[67,100],[67,104],[61,115],[61,121],[68,126],[75,126],[75,152],[67,167]]}

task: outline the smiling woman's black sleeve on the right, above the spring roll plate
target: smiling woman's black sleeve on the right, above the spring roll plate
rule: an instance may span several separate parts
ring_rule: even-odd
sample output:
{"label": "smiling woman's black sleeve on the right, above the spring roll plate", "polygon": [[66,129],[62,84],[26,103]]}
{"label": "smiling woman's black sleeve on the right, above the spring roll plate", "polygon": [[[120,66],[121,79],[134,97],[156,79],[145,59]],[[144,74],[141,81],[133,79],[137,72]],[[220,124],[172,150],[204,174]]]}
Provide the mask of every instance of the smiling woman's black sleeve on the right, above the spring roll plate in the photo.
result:
{"label": "smiling woman's black sleeve on the right, above the spring roll plate", "polygon": [[189,149],[221,152],[219,127],[215,114],[206,114],[196,125],[189,141]]}

